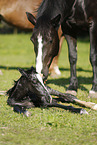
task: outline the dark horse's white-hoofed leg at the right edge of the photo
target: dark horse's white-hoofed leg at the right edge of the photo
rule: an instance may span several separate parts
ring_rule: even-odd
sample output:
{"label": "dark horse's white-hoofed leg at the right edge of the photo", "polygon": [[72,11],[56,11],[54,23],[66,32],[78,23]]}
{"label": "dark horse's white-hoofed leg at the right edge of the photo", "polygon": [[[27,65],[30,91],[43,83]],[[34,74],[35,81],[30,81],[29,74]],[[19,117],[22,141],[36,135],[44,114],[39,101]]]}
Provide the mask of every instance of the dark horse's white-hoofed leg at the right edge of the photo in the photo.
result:
{"label": "dark horse's white-hoofed leg at the right edge of the photo", "polygon": [[93,68],[93,84],[89,97],[97,98],[97,22],[90,25],[90,62]]}

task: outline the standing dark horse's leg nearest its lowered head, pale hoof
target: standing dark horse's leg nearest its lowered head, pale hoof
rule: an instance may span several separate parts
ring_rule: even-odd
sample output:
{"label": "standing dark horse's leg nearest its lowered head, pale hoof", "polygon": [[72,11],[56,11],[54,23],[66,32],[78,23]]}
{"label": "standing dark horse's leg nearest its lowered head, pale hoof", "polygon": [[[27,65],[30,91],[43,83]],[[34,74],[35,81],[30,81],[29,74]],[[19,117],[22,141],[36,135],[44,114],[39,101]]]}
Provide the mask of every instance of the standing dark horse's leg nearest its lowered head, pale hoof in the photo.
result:
{"label": "standing dark horse's leg nearest its lowered head, pale hoof", "polygon": [[77,40],[69,35],[65,35],[69,49],[69,62],[70,62],[70,85],[67,93],[76,95],[78,88],[78,80],[76,76],[76,62],[77,62]]}

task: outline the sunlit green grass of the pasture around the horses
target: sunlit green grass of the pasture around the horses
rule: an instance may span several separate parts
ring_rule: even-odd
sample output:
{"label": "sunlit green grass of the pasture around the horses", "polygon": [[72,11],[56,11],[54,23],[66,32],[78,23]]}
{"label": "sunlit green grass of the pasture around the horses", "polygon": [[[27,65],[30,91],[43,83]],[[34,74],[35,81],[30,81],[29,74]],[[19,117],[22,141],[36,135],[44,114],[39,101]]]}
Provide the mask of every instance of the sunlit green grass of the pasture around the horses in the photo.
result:
{"label": "sunlit green grass of the pasture around the horses", "polygon": [[[13,80],[20,77],[17,67],[35,66],[35,54],[30,42],[31,34],[0,35],[0,90],[8,90]],[[77,97],[89,99],[92,87],[92,68],[89,62],[89,41],[78,41]],[[48,78],[48,85],[65,92],[69,85],[69,62],[67,44],[64,41],[59,58],[62,75]],[[14,113],[6,104],[7,96],[0,96],[0,145],[96,145],[97,112],[86,109],[89,115],[73,114],[59,108],[34,108],[31,117]],[[71,104],[72,105],[72,104]],[[77,105],[74,105],[78,107]]]}

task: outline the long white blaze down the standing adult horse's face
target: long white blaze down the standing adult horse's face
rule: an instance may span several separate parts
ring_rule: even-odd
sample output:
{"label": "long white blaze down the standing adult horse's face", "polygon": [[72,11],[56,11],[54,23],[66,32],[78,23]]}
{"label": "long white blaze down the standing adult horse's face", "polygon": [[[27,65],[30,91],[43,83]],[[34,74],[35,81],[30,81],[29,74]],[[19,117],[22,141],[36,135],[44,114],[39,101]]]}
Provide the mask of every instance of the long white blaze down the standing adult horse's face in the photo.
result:
{"label": "long white blaze down the standing adult horse's face", "polygon": [[43,47],[43,43],[42,43],[42,36],[39,34],[38,35],[38,54],[37,54],[37,58],[36,58],[36,71],[38,73],[41,73],[41,70],[43,68],[43,64],[42,64],[42,47]]}

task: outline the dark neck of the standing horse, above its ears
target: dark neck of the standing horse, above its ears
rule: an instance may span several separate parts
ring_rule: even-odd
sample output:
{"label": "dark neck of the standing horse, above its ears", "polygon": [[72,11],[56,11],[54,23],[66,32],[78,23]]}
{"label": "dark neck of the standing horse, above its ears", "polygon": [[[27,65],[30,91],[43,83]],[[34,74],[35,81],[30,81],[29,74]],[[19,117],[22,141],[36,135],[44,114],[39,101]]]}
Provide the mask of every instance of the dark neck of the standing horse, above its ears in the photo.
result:
{"label": "dark neck of the standing horse, above its ears", "polygon": [[45,17],[51,20],[60,14],[60,21],[62,22],[63,19],[69,15],[74,1],[75,0],[43,0],[38,9],[37,19],[39,17]]}

